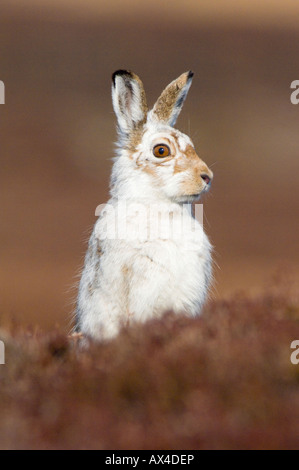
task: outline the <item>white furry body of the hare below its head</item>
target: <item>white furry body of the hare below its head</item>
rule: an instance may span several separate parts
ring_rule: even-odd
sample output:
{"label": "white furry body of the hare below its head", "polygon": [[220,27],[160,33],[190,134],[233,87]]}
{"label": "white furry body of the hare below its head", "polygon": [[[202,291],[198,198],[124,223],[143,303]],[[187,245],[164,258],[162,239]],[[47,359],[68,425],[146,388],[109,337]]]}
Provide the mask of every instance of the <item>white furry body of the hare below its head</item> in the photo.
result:
{"label": "white furry body of the hare below its head", "polygon": [[[128,202],[125,211],[112,199],[95,225],[80,287],[87,333],[110,337],[123,324],[166,311],[200,312],[211,276],[210,243],[188,208],[153,206]],[[113,227],[118,238],[111,237]]]}

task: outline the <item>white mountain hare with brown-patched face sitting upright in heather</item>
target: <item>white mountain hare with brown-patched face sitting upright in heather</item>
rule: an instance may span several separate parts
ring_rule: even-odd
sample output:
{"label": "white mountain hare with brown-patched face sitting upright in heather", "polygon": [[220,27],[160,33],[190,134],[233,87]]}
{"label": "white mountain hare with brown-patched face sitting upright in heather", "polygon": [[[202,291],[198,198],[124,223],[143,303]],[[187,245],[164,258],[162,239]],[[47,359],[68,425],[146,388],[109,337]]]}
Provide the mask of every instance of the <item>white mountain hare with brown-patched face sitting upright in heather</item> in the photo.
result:
{"label": "white mountain hare with brown-patched face sitting upright in heather", "polygon": [[211,279],[211,245],[193,213],[213,173],[173,126],[193,73],[171,82],[148,111],[139,77],[118,70],[112,100],[118,156],[111,198],[91,235],[79,286],[76,330],[111,338],[122,325],[166,311],[200,313]]}

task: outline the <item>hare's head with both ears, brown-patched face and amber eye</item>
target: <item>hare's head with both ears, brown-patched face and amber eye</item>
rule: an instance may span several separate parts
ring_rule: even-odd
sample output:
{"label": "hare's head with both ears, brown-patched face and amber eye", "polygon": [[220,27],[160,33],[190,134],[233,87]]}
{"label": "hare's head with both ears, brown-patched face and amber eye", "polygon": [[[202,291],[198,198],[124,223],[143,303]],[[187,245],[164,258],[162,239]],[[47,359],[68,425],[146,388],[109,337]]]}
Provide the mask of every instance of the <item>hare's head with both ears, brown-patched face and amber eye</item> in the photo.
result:
{"label": "hare's head with both ears, brown-patched face and amber eye", "polygon": [[173,128],[192,77],[192,72],[186,72],[171,82],[151,111],[137,75],[118,70],[112,77],[120,155],[126,159],[130,175],[134,174],[134,180],[136,175],[161,197],[177,202],[197,199],[209,189],[213,179],[191,139]]}

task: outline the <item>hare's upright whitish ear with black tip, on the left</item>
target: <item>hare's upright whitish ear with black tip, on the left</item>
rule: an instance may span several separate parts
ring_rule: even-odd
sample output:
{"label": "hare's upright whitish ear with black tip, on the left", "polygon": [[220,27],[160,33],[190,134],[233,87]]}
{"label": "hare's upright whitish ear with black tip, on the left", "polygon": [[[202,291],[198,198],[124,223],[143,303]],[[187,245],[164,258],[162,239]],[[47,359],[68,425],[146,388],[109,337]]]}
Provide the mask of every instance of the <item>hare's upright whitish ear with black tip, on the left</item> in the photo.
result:
{"label": "hare's upright whitish ear with black tip, on the left", "polygon": [[112,102],[122,136],[145,123],[147,104],[143,84],[137,75],[117,70],[112,75]]}

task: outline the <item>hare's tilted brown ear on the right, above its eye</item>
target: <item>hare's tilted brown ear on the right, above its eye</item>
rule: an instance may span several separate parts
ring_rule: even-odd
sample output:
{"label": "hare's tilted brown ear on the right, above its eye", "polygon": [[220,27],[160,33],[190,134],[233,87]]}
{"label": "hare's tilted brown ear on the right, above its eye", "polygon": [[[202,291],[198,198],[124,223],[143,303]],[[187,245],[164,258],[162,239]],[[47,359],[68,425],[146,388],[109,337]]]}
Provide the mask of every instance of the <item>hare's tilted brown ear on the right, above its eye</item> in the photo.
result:
{"label": "hare's tilted brown ear on the right, above its eye", "polygon": [[191,71],[183,73],[165,88],[151,111],[152,119],[169,126],[175,125],[191,86],[193,75]]}

